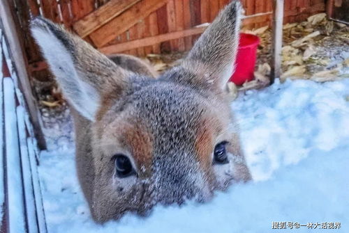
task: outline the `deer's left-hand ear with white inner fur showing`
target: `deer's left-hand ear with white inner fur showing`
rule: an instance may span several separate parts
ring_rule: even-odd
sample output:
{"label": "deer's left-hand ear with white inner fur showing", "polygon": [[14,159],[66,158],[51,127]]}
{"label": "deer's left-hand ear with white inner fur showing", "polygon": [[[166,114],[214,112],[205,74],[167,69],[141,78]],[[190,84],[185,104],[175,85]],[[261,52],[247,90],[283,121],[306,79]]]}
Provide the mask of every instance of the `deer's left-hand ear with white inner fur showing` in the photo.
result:
{"label": "deer's left-hand ear with white inner fur showing", "polygon": [[31,33],[68,102],[85,118],[94,121],[103,92],[124,89],[130,74],[81,38],[43,17],[31,22]]}

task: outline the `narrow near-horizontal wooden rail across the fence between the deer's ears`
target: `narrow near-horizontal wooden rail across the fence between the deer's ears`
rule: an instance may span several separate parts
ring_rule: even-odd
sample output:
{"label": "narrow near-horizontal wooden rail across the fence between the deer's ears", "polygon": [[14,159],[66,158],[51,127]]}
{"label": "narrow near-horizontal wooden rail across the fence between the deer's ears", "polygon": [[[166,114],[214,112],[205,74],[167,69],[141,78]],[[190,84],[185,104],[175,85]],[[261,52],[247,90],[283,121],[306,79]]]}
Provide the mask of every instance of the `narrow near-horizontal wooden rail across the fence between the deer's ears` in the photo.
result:
{"label": "narrow near-horizontal wooden rail across the fence between the deer's ears", "polygon": [[184,37],[189,36],[189,35],[197,35],[197,34],[203,33],[205,31],[205,29],[207,29],[206,26],[200,26],[197,28],[187,29],[184,31],[175,31],[172,33],[151,36],[149,38],[143,38],[140,40],[131,40],[131,41],[125,42],[125,43],[103,47],[103,48],[98,49],[98,50],[101,51],[103,54],[107,54],[107,55],[117,54],[121,51],[126,51],[129,49],[135,49],[138,47],[154,45],[154,44],[157,44],[159,42],[166,41],[166,40],[184,38]]}

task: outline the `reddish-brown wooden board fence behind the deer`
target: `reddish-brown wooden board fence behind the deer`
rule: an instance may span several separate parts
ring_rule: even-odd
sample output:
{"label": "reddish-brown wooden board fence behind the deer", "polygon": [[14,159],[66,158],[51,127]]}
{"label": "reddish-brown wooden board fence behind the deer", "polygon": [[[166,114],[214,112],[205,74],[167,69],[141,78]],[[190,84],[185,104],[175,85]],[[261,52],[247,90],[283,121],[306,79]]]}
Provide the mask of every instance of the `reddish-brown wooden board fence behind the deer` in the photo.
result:
{"label": "reddish-brown wooden board fence behind the deer", "polygon": [[[45,79],[47,68],[29,35],[30,14],[43,15],[64,24],[106,54],[136,56],[166,51],[186,51],[230,0],[2,0],[17,13],[27,53],[29,71]],[[258,28],[271,23],[274,0],[242,0],[244,26]],[[325,0],[285,0],[284,22],[306,19],[324,12]]]}

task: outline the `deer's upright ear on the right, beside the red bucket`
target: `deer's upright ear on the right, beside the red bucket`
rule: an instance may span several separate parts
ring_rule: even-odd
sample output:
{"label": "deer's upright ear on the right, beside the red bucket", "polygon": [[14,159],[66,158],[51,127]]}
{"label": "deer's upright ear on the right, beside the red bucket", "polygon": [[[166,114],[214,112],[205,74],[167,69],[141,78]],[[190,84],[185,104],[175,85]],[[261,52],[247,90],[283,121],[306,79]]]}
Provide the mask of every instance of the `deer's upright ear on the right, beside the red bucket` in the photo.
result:
{"label": "deer's upright ear on the right, beside the red bucket", "polygon": [[232,1],[195,42],[181,65],[168,72],[168,78],[198,88],[223,90],[235,69],[241,17],[241,3]]}

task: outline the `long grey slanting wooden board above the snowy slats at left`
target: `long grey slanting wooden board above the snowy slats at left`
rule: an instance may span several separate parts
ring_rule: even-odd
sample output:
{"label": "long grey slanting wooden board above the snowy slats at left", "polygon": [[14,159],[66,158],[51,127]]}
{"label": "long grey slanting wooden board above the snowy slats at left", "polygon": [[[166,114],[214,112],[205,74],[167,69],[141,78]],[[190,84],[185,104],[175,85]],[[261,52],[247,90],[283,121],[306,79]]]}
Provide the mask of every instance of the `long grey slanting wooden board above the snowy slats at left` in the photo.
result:
{"label": "long grey slanting wooden board above the snowy slats at left", "polygon": [[36,100],[31,91],[31,84],[29,82],[29,75],[27,73],[27,61],[25,60],[26,58],[20,44],[19,35],[14,30],[16,26],[15,22],[13,21],[13,16],[10,13],[8,1],[0,1],[0,18],[3,24],[4,33],[6,38],[8,38],[10,54],[15,64],[15,70],[17,72],[17,77],[20,81],[20,88],[23,91],[24,99],[29,110],[31,122],[34,125],[34,132],[36,138],[38,139],[38,145],[41,150],[45,150],[45,138],[40,127]]}

